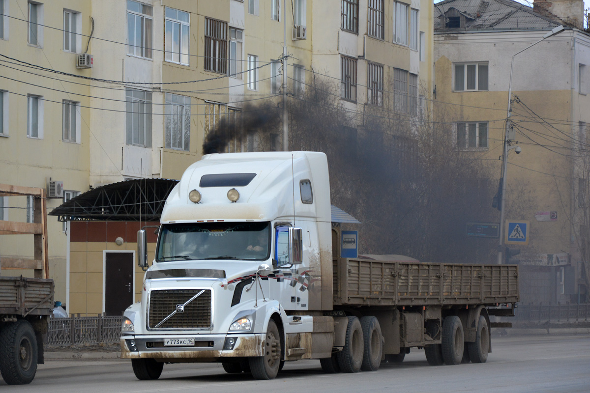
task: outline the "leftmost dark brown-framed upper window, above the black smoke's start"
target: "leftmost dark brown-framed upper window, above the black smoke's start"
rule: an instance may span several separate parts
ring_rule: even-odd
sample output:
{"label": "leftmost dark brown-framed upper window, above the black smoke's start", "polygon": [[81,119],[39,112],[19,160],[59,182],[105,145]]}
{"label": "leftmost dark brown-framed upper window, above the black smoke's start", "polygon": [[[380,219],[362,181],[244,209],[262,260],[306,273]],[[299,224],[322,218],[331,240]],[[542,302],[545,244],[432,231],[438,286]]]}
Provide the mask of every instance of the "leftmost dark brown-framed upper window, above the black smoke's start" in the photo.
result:
{"label": "leftmost dark brown-framed upper window, above the black smoke's start", "polygon": [[227,23],[205,18],[205,70],[227,73]]}

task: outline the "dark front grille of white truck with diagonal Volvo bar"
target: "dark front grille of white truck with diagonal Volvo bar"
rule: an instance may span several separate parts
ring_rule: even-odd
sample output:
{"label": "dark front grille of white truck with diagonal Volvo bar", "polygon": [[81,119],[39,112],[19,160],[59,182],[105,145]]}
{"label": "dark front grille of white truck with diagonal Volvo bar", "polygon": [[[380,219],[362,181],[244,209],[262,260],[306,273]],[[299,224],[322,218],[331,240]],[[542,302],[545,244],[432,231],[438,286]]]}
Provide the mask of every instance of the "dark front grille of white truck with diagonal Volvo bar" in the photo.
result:
{"label": "dark front grille of white truck with diagonal Volvo bar", "polygon": [[[201,289],[166,289],[152,290],[149,300],[148,329],[203,329],[211,328],[211,290],[205,289],[201,295],[178,311]],[[172,315],[156,328],[167,316]]]}

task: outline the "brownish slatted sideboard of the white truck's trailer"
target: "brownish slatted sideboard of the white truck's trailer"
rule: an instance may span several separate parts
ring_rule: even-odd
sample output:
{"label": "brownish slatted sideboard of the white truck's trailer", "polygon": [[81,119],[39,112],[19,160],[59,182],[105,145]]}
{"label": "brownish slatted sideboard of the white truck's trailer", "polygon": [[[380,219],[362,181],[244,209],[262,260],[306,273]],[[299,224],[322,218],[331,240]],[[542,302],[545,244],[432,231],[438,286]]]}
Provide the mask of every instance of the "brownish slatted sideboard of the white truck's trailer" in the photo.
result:
{"label": "brownish slatted sideboard of the white truck's trailer", "polygon": [[514,303],[518,266],[337,258],[334,304],[413,306]]}

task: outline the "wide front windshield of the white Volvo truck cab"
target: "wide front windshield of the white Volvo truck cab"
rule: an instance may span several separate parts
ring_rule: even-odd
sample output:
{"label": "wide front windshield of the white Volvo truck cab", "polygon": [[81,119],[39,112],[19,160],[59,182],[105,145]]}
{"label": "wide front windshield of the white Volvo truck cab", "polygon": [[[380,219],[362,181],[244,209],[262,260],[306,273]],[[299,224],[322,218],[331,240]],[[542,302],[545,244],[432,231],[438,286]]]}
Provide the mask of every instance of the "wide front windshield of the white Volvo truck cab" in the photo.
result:
{"label": "wide front windshield of the white Volvo truck cab", "polygon": [[156,260],[266,260],[270,255],[270,224],[163,224]]}

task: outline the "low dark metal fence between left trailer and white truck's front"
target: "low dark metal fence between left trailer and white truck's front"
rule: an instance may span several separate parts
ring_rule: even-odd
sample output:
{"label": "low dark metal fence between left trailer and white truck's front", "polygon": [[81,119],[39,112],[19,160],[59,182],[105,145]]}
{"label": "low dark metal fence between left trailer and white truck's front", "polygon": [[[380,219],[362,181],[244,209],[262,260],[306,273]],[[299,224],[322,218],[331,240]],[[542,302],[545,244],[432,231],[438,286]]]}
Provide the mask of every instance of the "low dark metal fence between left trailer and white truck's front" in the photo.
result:
{"label": "low dark metal fence between left trailer and white truck's front", "polygon": [[117,343],[122,322],[122,316],[50,318],[47,345]]}

